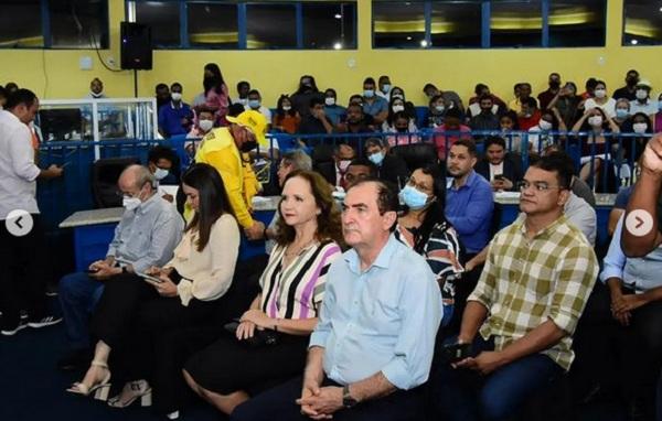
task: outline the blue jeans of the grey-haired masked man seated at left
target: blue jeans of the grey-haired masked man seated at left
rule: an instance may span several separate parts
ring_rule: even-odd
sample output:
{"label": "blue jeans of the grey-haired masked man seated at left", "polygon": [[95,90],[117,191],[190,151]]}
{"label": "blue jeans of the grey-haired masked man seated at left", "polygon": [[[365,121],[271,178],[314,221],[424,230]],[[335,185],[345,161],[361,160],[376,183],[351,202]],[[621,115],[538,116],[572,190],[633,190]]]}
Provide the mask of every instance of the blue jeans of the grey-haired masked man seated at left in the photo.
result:
{"label": "blue jeans of the grey-haired masked man seated at left", "polygon": [[85,349],[89,344],[89,316],[96,307],[104,283],[87,273],[70,273],[60,281],[60,304],[66,325],[66,336],[73,349]]}

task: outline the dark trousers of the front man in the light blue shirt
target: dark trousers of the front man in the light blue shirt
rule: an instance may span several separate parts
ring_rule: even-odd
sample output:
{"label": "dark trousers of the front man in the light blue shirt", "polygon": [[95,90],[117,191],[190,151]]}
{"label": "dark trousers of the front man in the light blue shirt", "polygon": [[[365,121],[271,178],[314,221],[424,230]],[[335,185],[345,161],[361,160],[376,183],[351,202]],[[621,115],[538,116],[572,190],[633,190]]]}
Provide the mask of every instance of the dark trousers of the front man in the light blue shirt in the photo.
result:
{"label": "dark trousers of the front man in the light blue shirt", "polygon": [[[308,421],[295,400],[301,397],[301,376],[242,403],[233,411],[232,421]],[[322,386],[339,386],[325,379]],[[397,390],[384,398],[370,400],[352,409],[341,409],[333,414],[340,421],[418,421],[424,419],[421,388]]]}

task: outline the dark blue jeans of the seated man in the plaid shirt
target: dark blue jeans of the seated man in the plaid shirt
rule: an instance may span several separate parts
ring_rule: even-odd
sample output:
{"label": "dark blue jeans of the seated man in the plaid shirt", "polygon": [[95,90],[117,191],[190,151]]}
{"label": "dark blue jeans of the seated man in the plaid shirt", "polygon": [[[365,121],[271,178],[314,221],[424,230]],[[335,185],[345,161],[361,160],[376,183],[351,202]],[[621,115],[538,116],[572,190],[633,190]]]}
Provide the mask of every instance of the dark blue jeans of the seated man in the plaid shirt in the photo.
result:
{"label": "dark blue jeans of the seated man in the plaid shirt", "polygon": [[[452,337],[447,343],[456,341]],[[480,335],[473,342],[474,355],[493,349],[493,342]],[[516,414],[527,398],[563,374],[563,368],[543,354],[520,358],[488,376],[437,363],[430,386],[436,417],[451,421],[505,420]]]}

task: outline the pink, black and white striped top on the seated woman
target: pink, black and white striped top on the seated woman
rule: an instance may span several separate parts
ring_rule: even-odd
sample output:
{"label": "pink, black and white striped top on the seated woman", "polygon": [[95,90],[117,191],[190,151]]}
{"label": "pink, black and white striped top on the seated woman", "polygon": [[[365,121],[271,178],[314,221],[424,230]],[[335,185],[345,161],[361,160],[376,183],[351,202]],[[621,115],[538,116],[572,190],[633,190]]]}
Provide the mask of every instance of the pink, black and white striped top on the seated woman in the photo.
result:
{"label": "pink, black and white striped top on the seated woman", "polygon": [[342,256],[332,240],[312,242],[282,268],[287,246],[276,246],[259,279],[260,309],[269,317],[317,317],[324,296],[324,282],[331,263]]}

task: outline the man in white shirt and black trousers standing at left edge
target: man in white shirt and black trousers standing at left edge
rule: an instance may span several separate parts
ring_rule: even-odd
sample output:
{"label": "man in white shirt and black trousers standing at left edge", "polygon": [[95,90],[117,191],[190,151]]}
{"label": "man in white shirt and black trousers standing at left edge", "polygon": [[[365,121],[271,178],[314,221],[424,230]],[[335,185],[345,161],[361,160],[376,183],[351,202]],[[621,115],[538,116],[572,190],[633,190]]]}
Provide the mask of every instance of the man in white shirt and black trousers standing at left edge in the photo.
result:
{"label": "man in white shirt and black trousers standing at left edge", "polygon": [[[45,282],[51,267],[35,198],[36,179],[58,177],[62,169],[51,165],[41,170],[34,163],[28,125],[38,110],[36,96],[19,89],[9,97],[6,110],[0,111],[0,333],[6,336],[25,326],[39,328],[62,320],[47,313]],[[29,224],[25,216],[23,224],[8,218],[12,210],[30,214],[33,227],[29,233],[20,233]],[[21,323],[21,304],[28,311],[26,324]]]}

